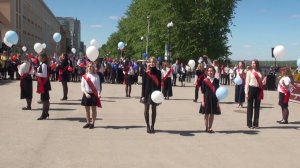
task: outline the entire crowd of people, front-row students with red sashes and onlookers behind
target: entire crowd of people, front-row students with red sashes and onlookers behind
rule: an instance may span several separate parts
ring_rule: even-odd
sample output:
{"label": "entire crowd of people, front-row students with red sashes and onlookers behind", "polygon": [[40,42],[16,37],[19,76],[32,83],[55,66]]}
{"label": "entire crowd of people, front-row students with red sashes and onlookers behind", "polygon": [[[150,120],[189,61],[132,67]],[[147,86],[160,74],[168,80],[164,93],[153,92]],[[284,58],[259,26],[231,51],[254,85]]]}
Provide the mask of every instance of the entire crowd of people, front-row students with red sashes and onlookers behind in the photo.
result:
{"label": "entire crowd of people, front-row students with red sashes and onlookers behind", "polygon": [[[10,66],[7,66],[10,64]],[[3,66],[4,65],[4,66]],[[40,94],[42,114],[38,120],[49,118],[51,82],[60,81],[63,93],[61,101],[68,99],[68,82],[81,82],[83,93],[81,105],[86,110],[86,124],[83,128],[94,128],[97,117],[97,107],[101,105],[102,83],[124,84],[125,96],[131,97],[131,85],[138,84],[138,76],[142,76],[142,91],[140,101],[144,104],[144,117],[147,133],[155,133],[157,106],[151,99],[154,91],[162,91],[166,100],[173,96],[172,87],[191,82],[194,77],[194,102],[198,101],[199,90],[202,93],[199,113],[204,114],[205,131],[214,133],[212,129],[214,115],[221,114],[216,90],[220,85],[235,85],[235,102],[237,108],[243,107],[247,102],[247,123],[250,129],[259,128],[260,104],[263,99],[266,75],[261,72],[259,61],[253,60],[251,67],[245,67],[243,61],[236,66],[220,65],[218,60],[210,61],[207,56],[201,58],[195,69],[188,64],[176,60],[174,64],[158,62],[155,57],[150,57],[145,62],[137,62],[127,58],[97,59],[90,61],[87,57],[79,58],[74,55],[61,54],[59,57],[47,56],[43,53],[38,58],[31,54],[7,56],[1,55],[1,77],[20,80],[21,99],[26,99],[27,106],[23,110],[31,110],[32,82],[37,81],[37,93]],[[8,70],[7,67],[10,67]],[[14,73],[17,72],[15,75]],[[271,72],[271,71],[270,71]],[[281,78],[278,81],[279,105],[282,109],[280,124],[288,123],[288,100],[293,77],[290,68],[281,68]],[[7,76],[8,75],[8,76]],[[234,78],[239,77],[241,84],[235,84]],[[151,124],[150,124],[151,106]],[[90,114],[92,111],[92,114]],[[254,113],[253,113],[254,111]],[[254,117],[253,117],[254,116]]]}

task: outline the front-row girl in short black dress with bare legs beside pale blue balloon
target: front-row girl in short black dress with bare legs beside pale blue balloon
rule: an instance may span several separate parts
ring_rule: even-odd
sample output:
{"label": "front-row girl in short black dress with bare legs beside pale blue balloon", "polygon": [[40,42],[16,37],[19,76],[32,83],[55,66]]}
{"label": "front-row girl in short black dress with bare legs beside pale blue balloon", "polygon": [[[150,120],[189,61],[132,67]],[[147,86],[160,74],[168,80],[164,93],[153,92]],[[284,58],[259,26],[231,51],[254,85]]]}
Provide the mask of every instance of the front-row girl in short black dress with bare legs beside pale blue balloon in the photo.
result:
{"label": "front-row girl in short black dress with bare legs beside pale blue balloon", "polygon": [[207,77],[203,80],[201,86],[202,102],[199,113],[204,114],[205,132],[214,133],[212,125],[214,115],[220,115],[221,110],[216,95],[219,88],[219,79],[215,78],[216,69],[213,66],[207,68]]}

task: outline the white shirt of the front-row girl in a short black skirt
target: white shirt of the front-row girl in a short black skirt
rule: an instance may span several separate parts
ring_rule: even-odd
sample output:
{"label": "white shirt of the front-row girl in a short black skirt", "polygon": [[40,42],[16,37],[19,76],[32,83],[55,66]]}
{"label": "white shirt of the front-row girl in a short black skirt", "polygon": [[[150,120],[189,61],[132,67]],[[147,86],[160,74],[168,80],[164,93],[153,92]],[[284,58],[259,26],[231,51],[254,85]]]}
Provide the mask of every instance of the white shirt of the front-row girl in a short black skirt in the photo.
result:
{"label": "white shirt of the front-row girl in a short black skirt", "polygon": [[[98,93],[100,94],[100,79],[97,74],[90,74],[86,73],[86,77],[90,78],[92,83],[94,84],[95,88],[97,89]],[[89,87],[88,83],[86,80],[82,77],[81,78],[81,91],[87,92],[87,93],[93,93],[92,89]]]}

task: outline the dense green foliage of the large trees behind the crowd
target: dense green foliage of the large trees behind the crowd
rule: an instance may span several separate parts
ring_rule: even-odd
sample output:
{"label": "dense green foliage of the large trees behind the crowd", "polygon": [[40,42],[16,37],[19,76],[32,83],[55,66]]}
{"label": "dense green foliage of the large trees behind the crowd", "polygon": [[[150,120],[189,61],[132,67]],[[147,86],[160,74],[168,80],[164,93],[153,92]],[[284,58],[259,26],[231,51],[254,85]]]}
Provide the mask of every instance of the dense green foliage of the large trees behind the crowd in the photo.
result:
{"label": "dense green foliage of the large trees behind the crowd", "polygon": [[[228,36],[234,9],[239,0],[132,0],[125,17],[119,21],[100,53],[118,56],[119,41],[126,45],[127,57],[140,59],[145,52],[147,16],[150,16],[149,55],[164,58],[169,40],[167,23],[173,22],[170,41],[172,57],[183,61],[206,54],[210,58],[228,57]],[[141,37],[144,37],[143,41]]]}

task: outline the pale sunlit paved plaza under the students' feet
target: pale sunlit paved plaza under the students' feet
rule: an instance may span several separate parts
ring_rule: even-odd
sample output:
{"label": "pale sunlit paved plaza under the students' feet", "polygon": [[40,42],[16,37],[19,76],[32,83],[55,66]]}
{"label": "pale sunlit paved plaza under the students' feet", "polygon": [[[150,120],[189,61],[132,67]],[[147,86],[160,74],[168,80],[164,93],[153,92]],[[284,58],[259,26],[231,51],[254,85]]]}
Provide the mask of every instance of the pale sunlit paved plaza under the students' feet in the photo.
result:
{"label": "pale sunlit paved plaza under the students' feet", "polygon": [[[290,103],[288,125],[280,125],[278,93],[266,91],[260,129],[246,126],[246,108],[233,103],[234,86],[220,103],[215,134],[204,131],[194,87],[174,87],[174,96],[158,106],[155,134],[147,134],[141,85],[131,98],[124,85],[104,84],[103,108],[95,129],[83,129],[80,83],[68,83],[68,101],[60,82],[52,82],[50,119],[41,114],[34,93],[32,110],[22,111],[19,81],[0,81],[1,168],[297,168],[300,167],[300,104]],[[36,90],[36,82],[34,82]],[[202,96],[202,95],[200,95]]]}

